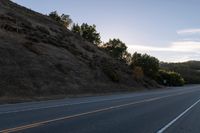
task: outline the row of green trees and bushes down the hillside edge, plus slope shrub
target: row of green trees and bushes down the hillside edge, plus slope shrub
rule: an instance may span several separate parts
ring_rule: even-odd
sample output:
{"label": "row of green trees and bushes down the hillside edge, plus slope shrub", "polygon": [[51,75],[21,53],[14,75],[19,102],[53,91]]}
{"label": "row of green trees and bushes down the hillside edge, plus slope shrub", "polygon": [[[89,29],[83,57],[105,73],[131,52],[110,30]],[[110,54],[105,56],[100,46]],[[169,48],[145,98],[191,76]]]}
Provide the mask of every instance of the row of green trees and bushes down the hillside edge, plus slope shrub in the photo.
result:
{"label": "row of green trees and bushes down the hillside edge, plus slope shrub", "polygon": [[[58,13],[54,11],[51,12],[49,16],[67,28],[72,24],[69,15],[62,14],[59,16]],[[73,24],[70,30],[91,44],[98,46],[102,51],[105,51],[116,60],[126,63],[126,65],[131,68],[132,74],[136,80],[142,80],[146,76],[165,86],[182,86],[185,84],[184,78],[178,73],[182,71],[173,69],[174,67],[172,68],[174,64],[160,64],[160,61],[156,57],[148,54],[137,52],[131,54],[127,51],[126,44],[118,38],[110,39],[108,42],[102,43],[100,33],[96,30],[96,25],[89,25],[87,23],[81,25]],[[115,70],[112,69],[112,66],[107,64],[103,64],[103,66],[105,74],[108,75],[112,81],[119,82],[120,77]],[[190,83],[188,80],[186,81]]]}

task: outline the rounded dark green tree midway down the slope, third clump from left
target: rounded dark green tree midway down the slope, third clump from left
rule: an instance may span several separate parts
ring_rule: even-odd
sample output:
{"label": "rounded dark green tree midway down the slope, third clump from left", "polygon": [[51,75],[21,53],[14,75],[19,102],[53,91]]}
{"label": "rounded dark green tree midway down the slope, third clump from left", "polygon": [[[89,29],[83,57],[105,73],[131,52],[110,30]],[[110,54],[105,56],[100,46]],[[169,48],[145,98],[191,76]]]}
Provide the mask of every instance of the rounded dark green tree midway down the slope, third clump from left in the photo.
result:
{"label": "rounded dark green tree midway down the slope, third clump from left", "polygon": [[103,48],[114,58],[123,59],[123,57],[128,56],[127,47],[119,39],[109,40],[109,42],[103,45]]}

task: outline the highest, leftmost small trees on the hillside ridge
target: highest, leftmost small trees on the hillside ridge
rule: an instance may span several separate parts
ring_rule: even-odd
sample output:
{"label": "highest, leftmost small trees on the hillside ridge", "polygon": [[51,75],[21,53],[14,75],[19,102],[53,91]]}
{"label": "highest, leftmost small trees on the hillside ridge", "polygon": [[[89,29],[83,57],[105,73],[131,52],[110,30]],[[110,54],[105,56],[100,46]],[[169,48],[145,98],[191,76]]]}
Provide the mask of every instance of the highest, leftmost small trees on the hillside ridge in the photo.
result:
{"label": "highest, leftmost small trees on the hillside ridge", "polygon": [[49,17],[52,18],[53,20],[61,23],[66,28],[68,28],[72,24],[72,19],[70,18],[69,15],[62,14],[61,16],[59,16],[58,13],[57,13],[57,11],[51,12],[49,14]]}

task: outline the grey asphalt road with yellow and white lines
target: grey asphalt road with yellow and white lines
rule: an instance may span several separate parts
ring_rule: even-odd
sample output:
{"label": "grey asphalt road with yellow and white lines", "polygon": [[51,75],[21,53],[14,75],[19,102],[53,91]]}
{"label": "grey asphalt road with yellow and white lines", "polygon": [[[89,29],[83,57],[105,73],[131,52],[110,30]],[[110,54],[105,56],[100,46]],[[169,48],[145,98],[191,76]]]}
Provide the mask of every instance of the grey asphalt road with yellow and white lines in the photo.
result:
{"label": "grey asphalt road with yellow and white lines", "polygon": [[0,133],[199,133],[200,85],[0,105]]}

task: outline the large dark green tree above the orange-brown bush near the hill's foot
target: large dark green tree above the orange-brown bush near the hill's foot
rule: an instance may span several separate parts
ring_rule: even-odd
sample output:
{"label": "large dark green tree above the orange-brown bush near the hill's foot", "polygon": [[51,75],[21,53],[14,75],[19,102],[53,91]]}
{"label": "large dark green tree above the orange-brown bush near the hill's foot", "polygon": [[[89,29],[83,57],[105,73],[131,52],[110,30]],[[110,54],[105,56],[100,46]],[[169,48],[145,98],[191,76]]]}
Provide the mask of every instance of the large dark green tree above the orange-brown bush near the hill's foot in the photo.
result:
{"label": "large dark green tree above the orange-brown bush near the hill's foot", "polygon": [[155,78],[159,70],[159,60],[147,54],[134,53],[132,55],[131,67],[142,67],[144,74]]}

